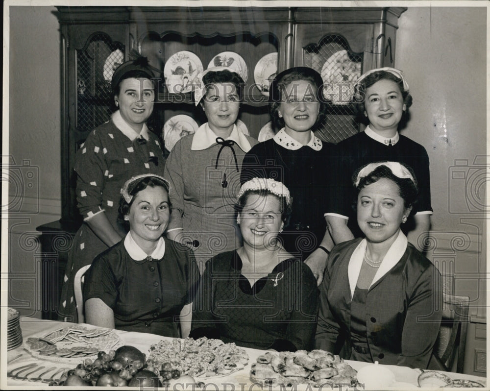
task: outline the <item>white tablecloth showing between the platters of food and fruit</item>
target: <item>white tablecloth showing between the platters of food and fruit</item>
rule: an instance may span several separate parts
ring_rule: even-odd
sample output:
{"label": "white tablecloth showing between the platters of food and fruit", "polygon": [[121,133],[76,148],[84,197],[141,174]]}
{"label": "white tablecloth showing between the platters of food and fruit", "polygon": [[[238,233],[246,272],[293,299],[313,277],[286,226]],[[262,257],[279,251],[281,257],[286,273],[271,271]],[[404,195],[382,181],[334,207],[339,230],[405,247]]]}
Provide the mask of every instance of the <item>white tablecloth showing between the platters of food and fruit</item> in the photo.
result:
{"label": "white tablecloth showing between the platters of food and fruit", "polygon": [[[36,318],[22,318],[21,319],[21,329],[22,329],[22,335],[24,338],[24,341],[35,334],[40,334],[40,333],[48,333],[49,331],[54,331],[57,330],[61,327],[65,327],[70,325],[71,323],[63,323],[63,322],[57,322],[53,320],[41,320],[41,319],[36,319]],[[91,325],[84,325],[87,327],[93,327]],[[160,337],[154,334],[145,334],[145,333],[136,333],[136,332],[125,332],[125,331],[120,331],[116,330],[117,334],[121,337],[125,345],[131,345],[135,346],[138,349],[140,349],[143,353],[145,353],[147,356],[149,355],[149,347],[153,343],[158,343],[162,339],[166,339],[167,337]],[[263,350],[257,350],[257,349],[249,349],[245,348],[246,352],[248,353],[249,356],[249,362],[248,365],[235,373],[232,373],[230,375],[226,376],[219,376],[219,377],[214,377],[214,378],[207,378],[205,379],[206,391],[211,391],[211,390],[227,390],[227,391],[260,391],[262,388],[254,384],[252,380],[250,380],[250,366],[252,363],[256,362],[257,357],[260,356],[261,354],[264,353]],[[22,356],[18,359],[16,359],[14,362],[10,364],[10,360],[12,360],[14,357],[18,356],[19,354],[22,354]],[[369,365],[368,363],[361,363],[357,361],[346,361],[351,367],[353,367],[356,370],[359,370],[362,367],[365,367]],[[11,370],[16,367],[21,367],[23,365],[29,364],[29,363],[37,363],[38,365],[43,365],[46,368],[48,367],[57,367],[57,368],[62,368],[62,367],[70,367],[73,368],[76,365],[73,364],[62,364],[59,362],[52,362],[44,359],[40,359],[38,357],[33,357],[32,355],[29,354],[27,350],[25,350],[22,346],[19,346],[16,349],[10,350],[7,352],[7,368],[5,370],[2,370],[1,373],[1,389],[25,389],[25,388],[34,388],[36,390],[41,390],[41,389],[52,389],[52,387],[49,387],[47,384],[44,383],[34,383],[34,382],[29,382],[29,381],[20,381],[20,380],[14,380],[14,379],[6,379],[6,372],[7,370]],[[401,382],[405,383],[404,388],[406,388],[409,383],[412,386],[417,386],[417,377],[420,374],[420,371],[417,369],[412,369],[408,367],[397,367],[397,366],[384,366],[389,368],[395,375],[395,380],[396,382]],[[3,369],[3,368],[2,368]],[[54,372],[54,371],[53,371]],[[51,372],[51,373],[53,373]],[[482,377],[477,377],[477,376],[471,376],[471,375],[465,375],[461,373],[452,373],[452,372],[443,372],[447,376],[449,376],[451,379],[466,379],[466,380],[474,380],[478,381],[480,383],[486,384],[486,379]],[[37,375],[37,373],[36,373]],[[49,376],[49,373],[46,375]],[[198,379],[201,380],[201,379]],[[290,388],[291,389],[291,388]],[[148,389],[149,390],[149,389]],[[177,390],[177,388],[176,388]],[[184,391],[183,387],[180,385],[180,388],[178,389],[179,391]],[[185,389],[187,390],[187,388]],[[200,390],[200,389],[196,389]],[[202,390],[202,389],[201,389]],[[263,390],[271,391],[271,388],[269,387],[264,387]],[[317,389],[312,389],[308,388],[306,385],[304,387],[298,386],[297,388],[293,388],[292,390],[317,390]],[[329,387],[327,390],[331,390]],[[345,390],[345,387],[343,388]],[[481,389],[480,389],[481,390]],[[284,389],[282,389],[284,391]],[[323,390],[324,391],[324,390]]]}

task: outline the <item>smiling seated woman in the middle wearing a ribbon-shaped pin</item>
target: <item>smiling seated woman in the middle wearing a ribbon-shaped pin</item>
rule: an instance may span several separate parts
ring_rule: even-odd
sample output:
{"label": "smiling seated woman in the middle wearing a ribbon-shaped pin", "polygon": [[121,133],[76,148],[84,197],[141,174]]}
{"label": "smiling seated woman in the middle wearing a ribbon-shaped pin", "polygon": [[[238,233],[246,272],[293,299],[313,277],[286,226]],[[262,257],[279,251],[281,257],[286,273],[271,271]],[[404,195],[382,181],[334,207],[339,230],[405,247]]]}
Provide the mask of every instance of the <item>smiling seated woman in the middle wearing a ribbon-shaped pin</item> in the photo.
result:
{"label": "smiling seated woman in the middle wearing a ribbon-shaped pin", "polygon": [[281,182],[245,182],[236,209],[244,245],[206,262],[193,305],[191,337],[277,351],[310,349],[318,289],[311,270],[277,241],[291,213]]}

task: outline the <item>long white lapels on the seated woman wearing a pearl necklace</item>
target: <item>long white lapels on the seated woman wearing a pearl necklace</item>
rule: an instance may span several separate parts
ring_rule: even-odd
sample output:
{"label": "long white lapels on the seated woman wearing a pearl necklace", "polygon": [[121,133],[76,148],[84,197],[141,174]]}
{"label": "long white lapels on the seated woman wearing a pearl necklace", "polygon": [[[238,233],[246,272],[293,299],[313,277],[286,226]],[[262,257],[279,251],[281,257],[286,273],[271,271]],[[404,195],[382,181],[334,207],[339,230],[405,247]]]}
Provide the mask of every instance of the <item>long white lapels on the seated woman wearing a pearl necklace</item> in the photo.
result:
{"label": "long white lapels on the seated woman wearing a pearl necklace", "polygon": [[[357,245],[356,249],[352,253],[349,260],[348,276],[349,276],[351,300],[352,297],[354,297],[354,290],[356,289],[357,279],[359,278],[361,266],[363,265],[364,253],[366,252],[367,243],[368,242],[366,241],[366,239],[363,239]],[[398,261],[401,259],[403,254],[405,254],[405,251],[407,249],[407,244],[408,244],[407,237],[400,230],[397,238],[395,239],[390,249],[386,253],[385,257],[383,258],[381,266],[376,271],[376,274],[374,275],[374,278],[371,281],[369,288],[371,288],[376,281],[378,281],[381,277],[383,277],[386,273],[388,273],[393,268],[393,266],[395,266],[398,263]]]}

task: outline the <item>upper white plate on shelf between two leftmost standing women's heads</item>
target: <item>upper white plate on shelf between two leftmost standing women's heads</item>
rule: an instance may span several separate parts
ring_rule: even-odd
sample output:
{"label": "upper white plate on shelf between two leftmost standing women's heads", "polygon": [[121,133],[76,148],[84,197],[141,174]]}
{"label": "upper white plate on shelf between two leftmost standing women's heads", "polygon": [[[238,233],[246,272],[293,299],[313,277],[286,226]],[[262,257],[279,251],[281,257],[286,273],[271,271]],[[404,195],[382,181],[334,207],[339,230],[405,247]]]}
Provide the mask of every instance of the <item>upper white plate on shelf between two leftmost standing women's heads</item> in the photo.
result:
{"label": "upper white plate on shelf between two leftmost standing women's heads", "polygon": [[178,51],[165,63],[163,74],[171,94],[188,93],[197,84],[197,74],[202,72],[202,62],[192,51]]}

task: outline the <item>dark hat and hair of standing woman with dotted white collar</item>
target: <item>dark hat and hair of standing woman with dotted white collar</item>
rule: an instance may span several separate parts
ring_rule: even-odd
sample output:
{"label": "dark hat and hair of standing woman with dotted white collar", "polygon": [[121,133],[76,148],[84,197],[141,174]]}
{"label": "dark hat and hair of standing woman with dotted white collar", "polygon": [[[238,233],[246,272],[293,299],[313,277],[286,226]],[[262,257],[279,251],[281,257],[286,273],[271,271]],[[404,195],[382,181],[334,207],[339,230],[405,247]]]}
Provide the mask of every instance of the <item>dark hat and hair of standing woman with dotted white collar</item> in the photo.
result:
{"label": "dark hat and hair of standing woman with dotted white collar", "polygon": [[[312,69],[307,71],[304,69],[304,67],[295,67],[283,71],[276,76],[270,91],[271,96],[273,95],[274,98],[270,99],[270,103],[269,103],[270,117],[272,119],[273,127],[276,131],[282,129],[285,126],[284,119],[279,117],[279,106],[282,100],[281,91],[284,87],[288,86],[292,82],[299,81],[299,80],[305,80],[316,88],[316,91],[314,91],[314,93],[316,94],[315,96],[317,97],[320,103],[320,109],[319,109],[317,121],[312,126],[312,130],[315,131],[319,126],[319,124],[323,122],[325,118],[325,109],[326,109],[325,101],[322,98],[323,82],[321,81],[321,77],[319,78],[318,77],[319,75],[317,75],[316,77],[316,75],[314,75],[312,71],[313,71]],[[274,88],[274,86],[277,87]]]}

